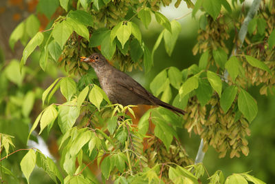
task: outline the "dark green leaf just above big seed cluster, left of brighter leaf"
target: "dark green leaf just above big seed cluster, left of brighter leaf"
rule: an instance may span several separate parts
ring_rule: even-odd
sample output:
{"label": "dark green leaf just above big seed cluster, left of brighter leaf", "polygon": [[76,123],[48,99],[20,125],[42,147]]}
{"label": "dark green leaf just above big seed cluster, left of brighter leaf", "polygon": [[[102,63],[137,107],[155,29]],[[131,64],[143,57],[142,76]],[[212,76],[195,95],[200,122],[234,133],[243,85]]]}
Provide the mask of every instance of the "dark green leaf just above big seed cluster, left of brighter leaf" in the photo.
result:
{"label": "dark green leaf just above big seed cluster, left of brighter leaf", "polygon": [[236,98],[236,92],[238,92],[238,88],[234,85],[229,85],[228,88],[225,88],[223,94],[221,94],[220,104],[224,114],[228,112],[234,99]]}

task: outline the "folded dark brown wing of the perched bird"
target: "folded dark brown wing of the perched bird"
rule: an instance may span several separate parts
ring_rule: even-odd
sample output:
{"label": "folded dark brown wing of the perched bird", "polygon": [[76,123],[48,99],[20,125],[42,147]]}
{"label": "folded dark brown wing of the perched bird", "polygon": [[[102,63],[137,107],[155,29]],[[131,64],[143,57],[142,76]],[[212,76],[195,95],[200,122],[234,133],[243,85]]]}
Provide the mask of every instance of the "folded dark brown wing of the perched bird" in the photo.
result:
{"label": "folded dark brown wing of the perched bird", "polygon": [[155,104],[155,101],[153,101],[152,98],[154,97],[153,94],[149,93],[145,88],[142,87],[142,85],[140,85],[140,83],[137,83],[137,81],[131,78],[131,76],[125,74],[124,72],[121,72],[118,76],[120,76],[120,78],[116,80],[116,83],[118,83],[118,85],[121,85],[122,87],[133,92],[134,94],[137,94],[143,99],[150,101],[152,105]]}

